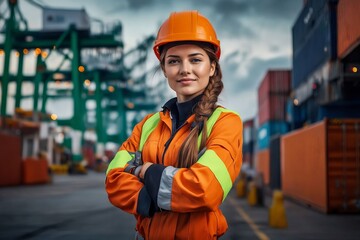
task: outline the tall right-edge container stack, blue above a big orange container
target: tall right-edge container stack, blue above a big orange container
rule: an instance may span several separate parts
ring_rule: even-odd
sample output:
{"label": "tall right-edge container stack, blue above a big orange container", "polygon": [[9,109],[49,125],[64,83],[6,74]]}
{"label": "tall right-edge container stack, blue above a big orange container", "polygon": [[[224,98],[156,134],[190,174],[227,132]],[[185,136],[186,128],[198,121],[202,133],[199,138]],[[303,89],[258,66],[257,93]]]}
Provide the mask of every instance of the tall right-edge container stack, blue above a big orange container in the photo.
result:
{"label": "tall right-edge container stack, blue above a big orange container", "polygon": [[359,11],[360,1],[306,1],[292,28],[287,112],[297,130],[270,143],[281,155],[270,185],[326,213],[360,213]]}

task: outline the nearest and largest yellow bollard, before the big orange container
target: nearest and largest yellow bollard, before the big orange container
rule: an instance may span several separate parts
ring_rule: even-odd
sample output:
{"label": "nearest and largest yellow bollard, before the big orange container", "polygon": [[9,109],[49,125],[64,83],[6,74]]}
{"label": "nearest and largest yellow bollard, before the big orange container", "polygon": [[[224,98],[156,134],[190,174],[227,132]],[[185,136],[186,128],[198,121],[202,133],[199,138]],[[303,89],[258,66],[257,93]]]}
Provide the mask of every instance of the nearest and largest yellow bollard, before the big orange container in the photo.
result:
{"label": "nearest and largest yellow bollard, before the big orange container", "polygon": [[287,218],[284,207],[284,197],[281,191],[273,193],[272,205],[269,209],[269,225],[273,228],[287,228]]}

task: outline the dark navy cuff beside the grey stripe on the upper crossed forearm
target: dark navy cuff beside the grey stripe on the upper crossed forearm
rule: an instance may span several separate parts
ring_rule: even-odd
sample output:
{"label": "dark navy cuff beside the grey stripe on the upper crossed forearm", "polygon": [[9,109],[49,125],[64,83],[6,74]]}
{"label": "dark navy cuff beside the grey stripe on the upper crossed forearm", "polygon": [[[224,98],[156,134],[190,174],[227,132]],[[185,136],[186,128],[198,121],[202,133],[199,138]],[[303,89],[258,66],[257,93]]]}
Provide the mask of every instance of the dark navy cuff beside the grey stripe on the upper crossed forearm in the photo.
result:
{"label": "dark navy cuff beside the grey stripe on the upper crossed forearm", "polygon": [[161,175],[165,166],[161,164],[152,164],[145,172],[144,182],[152,201],[157,204],[157,197],[160,188]]}

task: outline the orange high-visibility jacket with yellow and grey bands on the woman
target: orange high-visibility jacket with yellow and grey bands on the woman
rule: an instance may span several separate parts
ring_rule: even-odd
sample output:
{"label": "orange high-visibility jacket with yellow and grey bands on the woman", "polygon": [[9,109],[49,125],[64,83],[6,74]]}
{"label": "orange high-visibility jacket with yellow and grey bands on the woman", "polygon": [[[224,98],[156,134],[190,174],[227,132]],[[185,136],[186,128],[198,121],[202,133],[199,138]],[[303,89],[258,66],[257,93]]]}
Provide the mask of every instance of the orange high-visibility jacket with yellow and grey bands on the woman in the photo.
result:
{"label": "orange high-visibility jacket with yellow and grey bands on the woman", "polygon": [[[149,114],[109,165],[109,200],[135,215],[136,229],[145,239],[217,239],[227,230],[219,206],[242,164],[242,121],[235,112],[218,107],[208,120],[206,149],[198,161],[190,168],[176,168],[194,117],[174,133],[169,111]],[[138,150],[143,162],[154,163],[144,181],[124,171]]]}

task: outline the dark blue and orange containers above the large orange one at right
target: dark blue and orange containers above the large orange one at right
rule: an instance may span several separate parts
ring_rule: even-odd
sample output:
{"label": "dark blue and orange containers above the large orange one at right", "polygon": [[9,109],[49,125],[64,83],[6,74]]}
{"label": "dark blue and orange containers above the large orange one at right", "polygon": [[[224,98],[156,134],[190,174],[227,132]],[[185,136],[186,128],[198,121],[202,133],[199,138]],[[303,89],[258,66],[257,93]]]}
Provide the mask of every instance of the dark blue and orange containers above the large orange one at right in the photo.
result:
{"label": "dark blue and orange containers above the large orange one at right", "polygon": [[359,1],[309,0],[293,25],[294,128],[360,118],[359,11]]}

